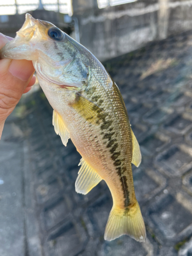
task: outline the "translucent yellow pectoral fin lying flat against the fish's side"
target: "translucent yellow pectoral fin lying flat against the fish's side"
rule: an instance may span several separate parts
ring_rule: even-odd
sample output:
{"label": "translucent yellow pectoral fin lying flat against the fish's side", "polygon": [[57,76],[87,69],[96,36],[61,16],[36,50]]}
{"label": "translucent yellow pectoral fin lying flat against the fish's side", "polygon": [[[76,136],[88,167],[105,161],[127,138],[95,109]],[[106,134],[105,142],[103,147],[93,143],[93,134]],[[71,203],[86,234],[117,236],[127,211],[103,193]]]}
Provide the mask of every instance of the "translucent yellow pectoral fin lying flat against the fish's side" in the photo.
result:
{"label": "translucent yellow pectoral fin lying flat against the fish's side", "polygon": [[98,120],[98,114],[104,113],[104,111],[97,104],[82,96],[80,93],[77,93],[76,96],[76,101],[71,104],[72,108],[88,122],[95,123]]}

